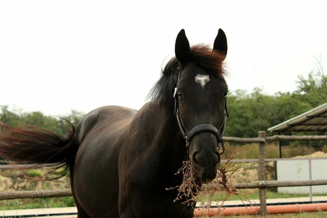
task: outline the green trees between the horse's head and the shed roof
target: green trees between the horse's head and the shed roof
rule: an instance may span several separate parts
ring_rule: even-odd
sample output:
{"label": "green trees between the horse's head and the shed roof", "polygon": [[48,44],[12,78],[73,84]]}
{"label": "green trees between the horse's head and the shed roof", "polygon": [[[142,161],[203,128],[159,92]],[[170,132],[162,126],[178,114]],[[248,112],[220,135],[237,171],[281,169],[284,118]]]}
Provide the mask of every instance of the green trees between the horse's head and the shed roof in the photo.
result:
{"label": "green trees between the horse's head and the shed roof", "polygon": [[[243,90],[231,92],[227,105],[225,135],[256,137],[259,130],[277,125],[327,102],[327,79],[320,72],[300,76],[297,90],[266,95],[256,88],[250,94]],[[269,134],[269,133],[268,133]]]}

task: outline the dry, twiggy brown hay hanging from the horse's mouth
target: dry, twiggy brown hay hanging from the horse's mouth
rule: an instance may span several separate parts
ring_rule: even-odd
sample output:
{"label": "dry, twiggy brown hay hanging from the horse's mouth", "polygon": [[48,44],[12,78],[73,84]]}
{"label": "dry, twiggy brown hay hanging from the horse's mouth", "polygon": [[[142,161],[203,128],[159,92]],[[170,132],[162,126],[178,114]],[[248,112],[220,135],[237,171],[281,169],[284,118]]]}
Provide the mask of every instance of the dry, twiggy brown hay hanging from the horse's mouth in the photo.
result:
{"label": "dry, twiggy brown hay hanging from the horse's mouth", "polygon": [[[251,201],[246,196],[249,193],[237,192],[236,188],[231,182],[231,178],[239,171],[241,165],[236,165],[232,162],[237,154],[232,154],[226,163],[221,164],[217,171],[217,176],[209,183],[203,183],[201,178],[196,174],[192,167],[192,161],[188,160],[183,163],[183,166],[177,171],[177,174],[183,175],[183,182],[176,187],[167,188],[167,190],[177,189],[178,195],[174,202],[183,200],[182,204],[187,204],[192,207],[197,201],[201,208],[210,209],[211,199],[215,193],[224,195],[223,202],[230,196],[236,195],[243,202],[247,201],[251,205]],[[245,199],[245,200],[244,200]],[[218,202],[217,202],[218,205]]]}

